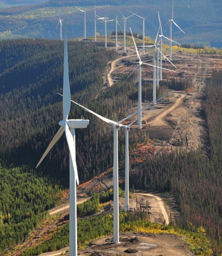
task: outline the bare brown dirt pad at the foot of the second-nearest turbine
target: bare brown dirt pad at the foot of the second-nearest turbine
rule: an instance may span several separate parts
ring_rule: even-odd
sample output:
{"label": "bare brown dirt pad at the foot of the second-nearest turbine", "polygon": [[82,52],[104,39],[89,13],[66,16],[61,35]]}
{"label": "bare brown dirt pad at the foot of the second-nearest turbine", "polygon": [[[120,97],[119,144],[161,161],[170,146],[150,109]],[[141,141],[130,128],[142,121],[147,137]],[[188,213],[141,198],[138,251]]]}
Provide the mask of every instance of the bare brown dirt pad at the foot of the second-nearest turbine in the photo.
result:
{"label": "bare brown dirt pad at the foot of the second-nearest turbine", "polygon": [[[128,251],[128,252],[127,252]],[[172,234],[120,234],[120,244],[112,243],[112,236],[92,241],[88,249],[79,255],[194,255],[186,245]]]}

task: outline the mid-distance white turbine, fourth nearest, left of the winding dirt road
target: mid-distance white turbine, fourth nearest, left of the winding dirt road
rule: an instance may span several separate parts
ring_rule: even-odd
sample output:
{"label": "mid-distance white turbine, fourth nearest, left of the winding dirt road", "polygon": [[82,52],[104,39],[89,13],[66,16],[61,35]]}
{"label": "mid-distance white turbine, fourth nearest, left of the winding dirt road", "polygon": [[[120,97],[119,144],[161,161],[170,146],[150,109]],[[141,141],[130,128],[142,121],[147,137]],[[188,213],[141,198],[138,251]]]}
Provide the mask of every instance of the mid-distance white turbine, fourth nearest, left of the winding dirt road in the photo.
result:
{"label": "mid-distance white turbine, fourth nearest, left of the winding dirt road", "polygon": [[[131,31],[131,34],[132,34],[132,37],[133,37],[133,32],[132,32],[131,28],[130,28],[130,31]],[[157,67],[158,69],[165,69],[165,68],[164,67],[158,67],[156,65],[151,65],[151,64],[148,64],[146,62],[142,62],[141,58],[139,56],[138,48],[136,46],[136,42],[134,40],[134,37],[133,37],[133,42],[134,42],[134,46],[136,48],[136,54],[138,56],[138,61],[139,61],[138,127],[139,127],[139,129],[141,129],[142,128],[142,64],[147,65],[147,66],[151,66],[151,67]],[[170,69],[166,69],[166,70],[170,70]],[[172,70],[170,70],[170,71],[172,71]],[[154,88],[154,92],[155,92],[155,88]],[[155,96],[154,92],[153,92],[153,95]],[[154,97],[153,100],[155,102],[155,97]]]}

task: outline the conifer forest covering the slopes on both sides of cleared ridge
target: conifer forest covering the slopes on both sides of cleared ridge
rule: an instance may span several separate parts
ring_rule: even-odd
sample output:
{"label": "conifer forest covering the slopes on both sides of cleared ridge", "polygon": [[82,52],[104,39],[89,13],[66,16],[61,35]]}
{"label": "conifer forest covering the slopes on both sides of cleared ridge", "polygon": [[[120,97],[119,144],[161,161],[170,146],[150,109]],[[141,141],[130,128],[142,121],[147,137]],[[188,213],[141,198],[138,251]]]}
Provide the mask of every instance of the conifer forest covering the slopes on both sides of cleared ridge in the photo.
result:
{"label": "conifer forest covering the slopes on both sides of cleared ridge", "polygon": [[[4,227],[0,229],[0,248],[3,250],[22,241],[44,218],[44,211],[54,207],[60,189],[68,187],[68,150],[63,137],[41,166],[33,171],[62,119],[62,98],[57,92],[62,93],[63,44],[56,40],[0,41],[0,56],[0,189],[6,191],[5,197],[0,198],[0,226]],[[127,75],[123,75],[115,87],[104,86],[102,77],[108,61],[116,57],[114,51],[106,51],[100,43],[69,41],[68,56],[73,100],[115,121],[134,112],[138,101],[136,74],[128,80]],[[215,70],[207,84],[204,114],[210,138],[210,158],[198,152],[178,151],[135,164],[131,166],[130,175],[132,189],[172,194],[181,212],[181,221],[176,224],[191,232],[204,226],[216,255],[221,252],[222,228],[221,78],[221,72]],[[162,83],[158,97],[165,95],[170,84],[179,90],[189,86],[183,80]],[[143,95],[146,90],[148,101],[152,100],[150,88],[146,85],[142,89]],[[90,120],[88,129],[76,131],[78,173],[80,182],[84,182],[112,166],[113,133],[96,117],[72,105],[70,118],[81,117]],[[147,136],[146,130],[131,130],[130,148],[146,140]],[[121,131],[120,160],[124,156],[124,143]],[[7,173],[4,179],[3,173]],[[18,188],[16,179],[27,186],[26,190],[31,191],[33,197]],[[6,185],[8,181],[11,188]],[[97,198],[94,201],[98,203]],[[12,202],[19,203],[12,206]],[[97,210],[93,209],[94,203],[90,207],[92,212]],[[89,213],[84,207],[79,211],[82,215]],[[19,225],[21,233],[17,232]],[[9,233],[11,237],[7,236]]]}

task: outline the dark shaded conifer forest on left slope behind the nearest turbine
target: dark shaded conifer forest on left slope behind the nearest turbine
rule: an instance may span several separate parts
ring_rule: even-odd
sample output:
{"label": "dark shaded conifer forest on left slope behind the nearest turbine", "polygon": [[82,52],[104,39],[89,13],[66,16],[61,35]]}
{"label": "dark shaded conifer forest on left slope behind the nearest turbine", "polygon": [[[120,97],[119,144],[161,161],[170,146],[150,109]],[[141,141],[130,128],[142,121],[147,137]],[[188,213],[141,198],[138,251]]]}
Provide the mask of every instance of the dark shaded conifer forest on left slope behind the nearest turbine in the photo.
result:
{"label": "dark shaded conifer forest on left slope behind the nearest turbine", "polygon": [[[35,168],[62,119],[62,97],[57,92],[62,93],[63,45],[60,41],[12,40],[1,41],[0,47],[0,159],[6,165],[27,164]],[[68,49],[73,99],[116,121],[133,113],[133,104],[138,100],[134,78],[101,90],[103,70],[107,61],[114,58],[114,52],[98,48],[94,43],[79,42],[70,42]],[[147,88],[146,96],[147,100],[152,98],[151,89]],[[72,105],[70,118],[81,116],[90,119],[87,129],[76,130],[76,158],[83,182],[111,166],[113,132],[107,124]],[[123,133],[120,132],[120,160],[124,155]],[[133,147],[134,143],[146,139],[146,134],[132,130],[130,137]],[[38,171],[68,186],[64,137]]]}

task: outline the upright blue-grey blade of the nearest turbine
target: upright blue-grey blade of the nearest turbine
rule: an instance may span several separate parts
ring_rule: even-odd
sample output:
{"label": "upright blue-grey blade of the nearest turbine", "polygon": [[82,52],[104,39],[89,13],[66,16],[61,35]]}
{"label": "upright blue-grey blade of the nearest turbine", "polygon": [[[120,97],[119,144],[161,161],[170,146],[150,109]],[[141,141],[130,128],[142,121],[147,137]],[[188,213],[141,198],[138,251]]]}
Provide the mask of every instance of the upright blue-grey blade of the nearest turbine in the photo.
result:
{"label": "upright blue-grey blade of the nearest turbine", "polygon": [[64,85],[63,85],[63,119],[68,119],[68,114],[71,108],[71,94],[70,94],[70,83],[68,76],[68,44],[67,36],[64,41]]}

